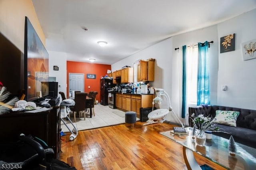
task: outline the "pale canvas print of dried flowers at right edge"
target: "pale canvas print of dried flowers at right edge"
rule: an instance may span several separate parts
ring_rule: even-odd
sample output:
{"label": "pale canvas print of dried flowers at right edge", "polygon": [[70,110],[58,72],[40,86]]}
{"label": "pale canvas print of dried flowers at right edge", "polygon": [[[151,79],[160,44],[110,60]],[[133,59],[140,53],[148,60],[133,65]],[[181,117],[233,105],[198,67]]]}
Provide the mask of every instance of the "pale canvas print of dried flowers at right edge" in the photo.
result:
{"label": "pale canvas print of dried flowers at right edge", "polygon": [[241,43],[244,60],[256,58],[256,39]]}

